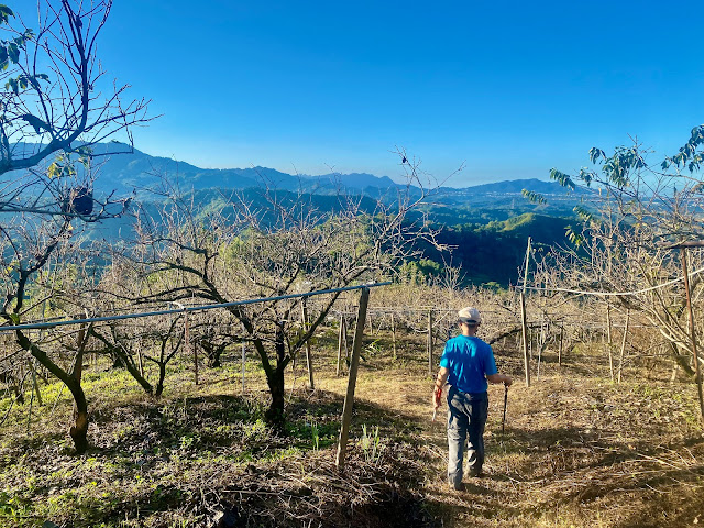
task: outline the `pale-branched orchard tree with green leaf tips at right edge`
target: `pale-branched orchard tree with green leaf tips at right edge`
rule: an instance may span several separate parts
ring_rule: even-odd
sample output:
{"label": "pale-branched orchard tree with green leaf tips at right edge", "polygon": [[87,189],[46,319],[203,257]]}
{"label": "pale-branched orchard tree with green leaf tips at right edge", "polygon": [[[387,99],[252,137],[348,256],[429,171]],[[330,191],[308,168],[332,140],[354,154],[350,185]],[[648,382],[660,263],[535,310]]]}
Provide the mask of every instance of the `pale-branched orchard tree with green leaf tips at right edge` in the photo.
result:
{"label": "pale-branched orchard tree with green leaf tips at right edge", "polygon": [[[692,130],[678,154],[656,163],[653,153],[634,141],[612,155],[592,148],[594,168],[574,175],[552,169],[550,177],[579,191],[582,202],[574,208],[579,224],[568,230],[572,248],[552,252],[542,274],[550,277],[549,288],[602,292],[609,305],[641,312],[671,343],[673,359],[689,374],[697,365],[688,362],[691,354],[680,352],[692,350],[692,339],[679,280],[681,261],[672,248],[704,240],[703,144],[704,125]],[[529,190],[524,195],[544,200]],[[689,257],[691,270],[704,267],[702,250]],[[695,301],[703,287],[701,273],[693,274],[690,289]]]}

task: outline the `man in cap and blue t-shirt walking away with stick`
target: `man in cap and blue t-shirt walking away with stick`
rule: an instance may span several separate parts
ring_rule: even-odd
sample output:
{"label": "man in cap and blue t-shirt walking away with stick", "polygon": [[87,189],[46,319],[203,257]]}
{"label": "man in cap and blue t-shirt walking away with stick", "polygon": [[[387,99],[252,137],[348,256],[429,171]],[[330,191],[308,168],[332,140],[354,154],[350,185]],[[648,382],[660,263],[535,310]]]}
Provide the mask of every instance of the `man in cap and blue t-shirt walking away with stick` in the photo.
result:
{"label": "man in cap and blue t-shirt walking away with stick", "polygon": [[463,490],[462,463],[468,442],[471,476],[482,476],[484,464],[484,426],[488,410],[487,381],[510,386],[513,380],[498,374],[492,348],[476,337],[482,316],[476,308],[458,312],[461,334],[448,340],[440,359],[440,371],[432,396],[433,409],[440,406],[442,387],[448,389],[448,481],[454,490]]}

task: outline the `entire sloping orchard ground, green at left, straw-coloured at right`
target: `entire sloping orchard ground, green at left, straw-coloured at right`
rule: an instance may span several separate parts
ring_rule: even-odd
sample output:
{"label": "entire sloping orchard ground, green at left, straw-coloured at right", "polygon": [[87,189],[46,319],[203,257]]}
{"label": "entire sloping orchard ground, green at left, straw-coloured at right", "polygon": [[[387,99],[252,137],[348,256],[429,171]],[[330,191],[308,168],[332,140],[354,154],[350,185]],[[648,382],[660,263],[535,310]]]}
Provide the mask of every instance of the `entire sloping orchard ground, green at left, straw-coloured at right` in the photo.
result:
{"label": "entire sloping orchard ground, green at left, straw-coloured at right", "polygon": [[[198,387],[188,372],[173,372],[158,402],[119,371],[90,370],[95,448],[78,458],[65,435],[66,394],[43,387],[30,435],[26,404],[2,426],[0,526],[50,518],[64,527],[208,526],[218,513],[229,526],[292,527],[674,528],[704,520],[704,440],[691,384],[671,385],[653,377],[663,370],[638,364],[612,384],[603,352],[583,346],[562,366],[546,353],[527,388],[517,351],[496,348],[499,369],[517,378],[506,431],[503,388],[493,386],[487,476],[466,480],[459,493],[443,481],[442,422],[429,420],[424,338],[408,337],[396,361],[389,350],[388,333],[367,338],[342,474],[333,460],[345,380],[334,376],[333,332],[314,351],[316,392],[297,371],[287,438],[261,420],[265,394],[254,362],[240,396],[237,353],[229,367],[201,372]],[[4,399],[2,414],[7,407]],[[370,443],[375,427],[381,455]]]}

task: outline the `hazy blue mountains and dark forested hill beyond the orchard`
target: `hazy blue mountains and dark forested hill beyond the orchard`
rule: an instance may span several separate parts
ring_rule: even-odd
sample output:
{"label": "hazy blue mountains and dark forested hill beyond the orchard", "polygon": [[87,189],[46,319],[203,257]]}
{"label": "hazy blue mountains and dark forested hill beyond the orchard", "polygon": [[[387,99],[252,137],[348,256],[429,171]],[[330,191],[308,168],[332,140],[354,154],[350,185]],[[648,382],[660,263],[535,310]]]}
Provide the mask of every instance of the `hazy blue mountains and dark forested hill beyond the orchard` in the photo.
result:
{"label": "hazy blue mountains and dark forested hill beyond the orchard", "polygon": [[[18,145],[31,152],[36,145]],[[97,193],[116,193],[116,196],[131,195],[134,190],[145,210],[158,218],[160,195],[148,191],[160,188],[163,179],[169,185],[178,185],[180,190],[193,189],[193,199],[204,211],[222,208],[230,213],[228,193],[238,189],[239,197],[253,205],[253,210],[266,211],[262,187],[276,188],[277,200],[283,207],[296,207],[299,193],[307,194],[306,204],[321,212],[337,212],[345,206],[337,193],[359,197],[355,200],[361,211],[373,215],[377,209],[377,198],[397,197],[398,185],[387,176],[372,174],[324,174],[320,176],[292,175],[266,167],[208,169],[186,162],[157,157],[134,150],[121,143],[99,144],[94,150],[98,177]],[[121,152],[121,153],[119,153]],[[119,153],[119,154],[118,154]],[[48,162],[48,161],[47,161]],[[548,204],[537,205],[522,198],[521,190],[530,189],[546,195]],[[419,194],[421,189],[410,188]],[[161,195],[166,197],[168,195]],[[572,208],[581,196],[568,194],[557,183],[539,179],[514,179],[482,184],[464,188],[442,187],[432,193],[415,210],[409,220],[431,222],[441,228],[439,241],[453,251],[454,265],[462,265],[466,284],[507,285],[515,280],[516,270],[525,255],[526,239],[532,237],[536,243],[551,245],[564,240],[565,227],[573,221]],[[260,207],[261,206],[261,207]],[[218,209],[220,210],[220,209]],[[266,213],[262,217],[267,222]],[[134,217],[125,215],[105,222],[87,226],[85,235],[91,240],[111,242],[130,240],[134,235]],[[435,261],[441,268],[443,255],[420,240],[419,249],[426,258]],[[436,266],[437,267],[437,266]]]}

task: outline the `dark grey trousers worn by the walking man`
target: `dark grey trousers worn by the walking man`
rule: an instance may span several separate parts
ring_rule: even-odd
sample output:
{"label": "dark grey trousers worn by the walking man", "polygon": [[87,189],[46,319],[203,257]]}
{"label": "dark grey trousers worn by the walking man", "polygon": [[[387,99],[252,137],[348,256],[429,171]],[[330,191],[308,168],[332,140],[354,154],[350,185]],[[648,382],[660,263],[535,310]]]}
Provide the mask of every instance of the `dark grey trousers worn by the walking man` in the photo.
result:
{"label": "dark grey trousers worn by the walking man", "polygon": [[462,484],[465,443],[470,473],[482,472],[487,413],[486,393],[462,393],[453,386],[448,391],[448,482],[455,488]]}

